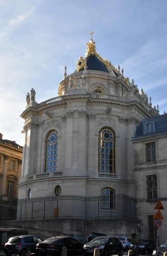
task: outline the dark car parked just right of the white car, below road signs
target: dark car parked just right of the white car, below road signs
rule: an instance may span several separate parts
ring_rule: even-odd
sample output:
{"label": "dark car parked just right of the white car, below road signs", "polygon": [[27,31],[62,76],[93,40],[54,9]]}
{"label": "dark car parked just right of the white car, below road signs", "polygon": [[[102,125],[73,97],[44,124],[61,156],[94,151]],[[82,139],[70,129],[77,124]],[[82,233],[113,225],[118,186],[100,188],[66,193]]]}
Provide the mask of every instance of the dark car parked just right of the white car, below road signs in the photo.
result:
{"label": "dark car parked just right of the white car, below road signs", "polygon": [[130,246],[130,249],[133,249],[137,245],[137,252],[138,254],[145,254],[153,253],[153,250],[155,249],[156,245],[153,240],[147,240],[147,239],[140,239],[135,244],[132,244]]}

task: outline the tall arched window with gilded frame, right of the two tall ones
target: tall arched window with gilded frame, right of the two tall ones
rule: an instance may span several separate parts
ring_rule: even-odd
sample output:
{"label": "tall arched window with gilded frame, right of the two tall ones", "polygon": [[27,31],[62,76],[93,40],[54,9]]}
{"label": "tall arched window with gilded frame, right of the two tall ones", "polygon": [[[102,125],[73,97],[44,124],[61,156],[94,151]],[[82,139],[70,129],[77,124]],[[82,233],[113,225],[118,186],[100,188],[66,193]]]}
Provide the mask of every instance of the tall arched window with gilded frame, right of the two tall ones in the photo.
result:
{"label": "tall arched window with gilded frame, right of the two tall ones", "polygon": [[115,135],[108,127],[99,132],[99,172],[115,173]]}

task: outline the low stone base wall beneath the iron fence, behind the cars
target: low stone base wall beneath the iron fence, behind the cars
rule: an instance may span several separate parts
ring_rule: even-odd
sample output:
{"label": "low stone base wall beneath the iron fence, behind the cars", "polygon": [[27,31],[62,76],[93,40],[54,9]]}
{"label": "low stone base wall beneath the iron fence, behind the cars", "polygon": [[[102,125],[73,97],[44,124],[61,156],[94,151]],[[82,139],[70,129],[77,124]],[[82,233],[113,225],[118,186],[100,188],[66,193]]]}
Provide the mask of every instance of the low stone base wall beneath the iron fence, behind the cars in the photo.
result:
{"label": "low stone base wall beneath the iron fence, behind the cars", "polygon": [[71,236],[85,242],[91,232],[101,232],[108,236],[131,237],[136,233],[137,223],[130,220],[32,220],[0,221],[3,228],[28,229],[29,234],[45,239],[52,236]]}

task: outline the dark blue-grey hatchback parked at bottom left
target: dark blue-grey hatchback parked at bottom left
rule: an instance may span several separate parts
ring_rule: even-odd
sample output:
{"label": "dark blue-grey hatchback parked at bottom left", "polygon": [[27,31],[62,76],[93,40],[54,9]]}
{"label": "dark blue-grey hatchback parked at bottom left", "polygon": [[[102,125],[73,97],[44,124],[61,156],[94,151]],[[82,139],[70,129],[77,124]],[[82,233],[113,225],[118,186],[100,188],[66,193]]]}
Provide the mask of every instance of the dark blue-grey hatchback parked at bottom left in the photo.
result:
{"label": "dark blue-grey hatchback parked at bottom left", "polygon": [[36,244],[41,241],[41,238],[31,235],[11,237],[5,244],[4,252],[7,256],[11,256],[12,254],[23,256],[28,249],[31,252],[36,252]]}

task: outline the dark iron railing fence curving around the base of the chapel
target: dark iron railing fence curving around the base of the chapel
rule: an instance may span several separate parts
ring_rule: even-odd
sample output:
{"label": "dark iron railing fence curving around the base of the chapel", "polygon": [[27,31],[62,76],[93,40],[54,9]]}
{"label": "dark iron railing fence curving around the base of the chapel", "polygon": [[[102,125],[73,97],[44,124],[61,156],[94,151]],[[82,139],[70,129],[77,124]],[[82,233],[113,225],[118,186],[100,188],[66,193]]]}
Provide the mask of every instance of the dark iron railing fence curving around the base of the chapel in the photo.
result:
{"label": "dark iron railing fence curving around the base of the chapel", "polygon": [[[104,204],[105,200],[106,203]],[[114,195],[112,208],[109,198],[104,198],[104,196],[66,195],[20,199],[17,201],[18,220],[51,218],[135,219],[135,201],[133,198],[122,194]]]}

